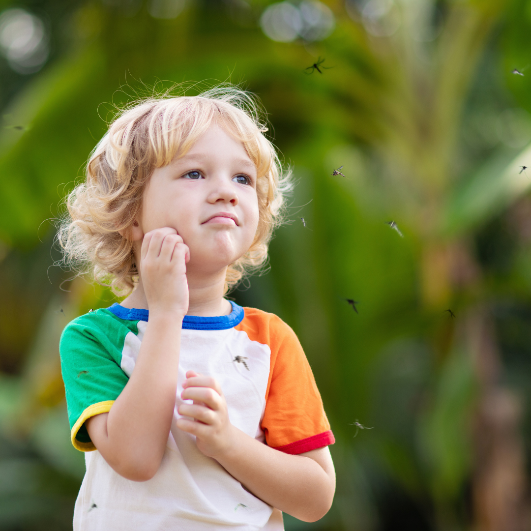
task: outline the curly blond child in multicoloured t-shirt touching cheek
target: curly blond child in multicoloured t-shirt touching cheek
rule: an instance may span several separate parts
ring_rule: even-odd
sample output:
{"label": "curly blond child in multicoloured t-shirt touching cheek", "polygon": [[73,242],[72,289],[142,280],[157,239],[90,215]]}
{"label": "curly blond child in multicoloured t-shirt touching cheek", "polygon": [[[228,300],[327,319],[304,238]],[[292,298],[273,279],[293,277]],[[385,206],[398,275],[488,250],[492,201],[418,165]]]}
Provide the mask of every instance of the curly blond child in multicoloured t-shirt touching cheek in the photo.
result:
{"label": "curly blond child in multicoloured t-shirt touching cheek", "polygon": [[110,125],[59,231],[80,271],[130,295],[61,338],[75,531],[284,529],[322,518],[335,442],[276,315],[224,298],[267,256],[286,178],[250,96],[150,98]]}

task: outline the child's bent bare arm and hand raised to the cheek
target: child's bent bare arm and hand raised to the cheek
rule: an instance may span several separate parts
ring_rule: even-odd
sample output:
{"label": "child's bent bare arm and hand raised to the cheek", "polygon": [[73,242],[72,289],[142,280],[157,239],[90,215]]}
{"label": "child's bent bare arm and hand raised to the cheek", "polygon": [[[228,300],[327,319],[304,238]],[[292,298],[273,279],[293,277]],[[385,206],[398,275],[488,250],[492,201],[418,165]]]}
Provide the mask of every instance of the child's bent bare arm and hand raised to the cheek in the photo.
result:
{"label": "child's bent bare arm and hand raised to the cheek", "polygon": [[162,460],[175,408],[181,327],[188,309],[188,247],[175,229],[147,233],[140,270],[149,321],[135,368],[109,413],[87,420],[107,463],[133,481],[153,477]]}

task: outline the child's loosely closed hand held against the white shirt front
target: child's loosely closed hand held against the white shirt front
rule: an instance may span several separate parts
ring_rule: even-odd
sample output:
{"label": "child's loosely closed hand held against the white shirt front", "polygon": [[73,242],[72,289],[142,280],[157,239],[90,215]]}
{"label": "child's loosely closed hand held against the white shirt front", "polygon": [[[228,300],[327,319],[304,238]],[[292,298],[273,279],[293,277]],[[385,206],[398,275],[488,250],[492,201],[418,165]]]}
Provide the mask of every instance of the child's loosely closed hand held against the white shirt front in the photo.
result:
{"label": "child's loosely closed hand held against the white shirt front", "polygon": [[195,435],[199,450],[216,459],[234,447],[235,427],[229,421],[227,402],[214,378],[194,371],[188,371],[186,378],[181,398],[193,400],[193,404],[181,404],[177,411],[195,420],[178,418],[177,427]]}

